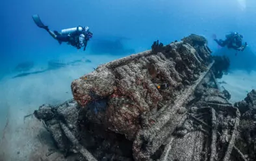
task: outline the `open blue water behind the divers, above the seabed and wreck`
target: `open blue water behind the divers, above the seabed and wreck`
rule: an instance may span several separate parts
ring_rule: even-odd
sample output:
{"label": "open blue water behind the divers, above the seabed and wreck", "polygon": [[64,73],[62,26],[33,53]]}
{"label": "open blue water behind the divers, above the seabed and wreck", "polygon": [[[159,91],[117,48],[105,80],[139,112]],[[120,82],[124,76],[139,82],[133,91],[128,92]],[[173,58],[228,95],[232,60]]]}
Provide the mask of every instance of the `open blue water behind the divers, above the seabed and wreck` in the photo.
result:
{"label": "open blue water behind the divers, above the seabed and wreck", "polygon": [[224,38],[230,31],[243,34],[250,49],[253,52],[256,49],[256,22],[252,20],[256,16],[256,2],[253,0],[247,0],[244,8],[235,0],[12,0],[1,5],[1,74],[6,73],[7,67],[12,68],[25,60],[44,62],[77,53],[74,47],[59,45],[44,29],[38,28],[32,21],[33,14],[39,14],[52,30],[77,25],[90,27],[94,37],[83,52],[84,56],[96,54],[90,53],[90,44],[99,38],[127,38],[124,45],[139,52],[150,49],[157,39],[166,44],[191,33],[208,38],[214,51],[217,46],[212,41],[212,34]]}

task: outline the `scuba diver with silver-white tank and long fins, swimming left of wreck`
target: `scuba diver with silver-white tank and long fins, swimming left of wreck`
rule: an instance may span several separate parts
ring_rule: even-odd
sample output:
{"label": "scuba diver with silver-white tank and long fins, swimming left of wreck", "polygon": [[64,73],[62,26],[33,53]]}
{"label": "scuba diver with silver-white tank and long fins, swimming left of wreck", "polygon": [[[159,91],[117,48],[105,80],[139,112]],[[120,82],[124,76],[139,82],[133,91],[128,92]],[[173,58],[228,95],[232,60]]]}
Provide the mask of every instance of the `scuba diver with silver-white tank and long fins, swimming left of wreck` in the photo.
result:
{"label": "scuba diver with silver-white tank and long fins, swimming left of wreck", "polygon": [[67,42],[77,49],[86,48],[88,40],[92,38],[92,32],[90,32],[89,27],[74,27],[71,29],[63,29],[61,32],[51,31],[48,26],[45,26],[44,23],[40,20],[37,14],[33,15],[34,23],[42,29],[45,29],[49,34],[55,38],[58,43]]}

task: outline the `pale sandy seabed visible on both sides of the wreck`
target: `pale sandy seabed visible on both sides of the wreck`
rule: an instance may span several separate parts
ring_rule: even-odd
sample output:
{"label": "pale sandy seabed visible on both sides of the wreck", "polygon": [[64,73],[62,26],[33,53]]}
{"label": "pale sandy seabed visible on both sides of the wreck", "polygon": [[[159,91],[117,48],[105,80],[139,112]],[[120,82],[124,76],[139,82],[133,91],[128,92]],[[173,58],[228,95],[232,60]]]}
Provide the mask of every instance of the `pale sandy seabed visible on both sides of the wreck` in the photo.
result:
{"label": "pale sandy seabed visible on both sides of the wreck", "polygon": [[[74,60],[75,58],[73,58]],[[56,105],[71,99],[70,84],[74,79],[93,71],[93,68],[116,58],[110,56],[88,56],[92,63],[66,66],[44,73],[10,79],[0,84],[0,161],[62,160],[59,153],[45,156],[49,147],[54,147],[50,134],[32,114],[40,105]],[[218,82],[224,82],[231,93],[231,103],[246,97],[255,88],[256,72],[233,71]]]}

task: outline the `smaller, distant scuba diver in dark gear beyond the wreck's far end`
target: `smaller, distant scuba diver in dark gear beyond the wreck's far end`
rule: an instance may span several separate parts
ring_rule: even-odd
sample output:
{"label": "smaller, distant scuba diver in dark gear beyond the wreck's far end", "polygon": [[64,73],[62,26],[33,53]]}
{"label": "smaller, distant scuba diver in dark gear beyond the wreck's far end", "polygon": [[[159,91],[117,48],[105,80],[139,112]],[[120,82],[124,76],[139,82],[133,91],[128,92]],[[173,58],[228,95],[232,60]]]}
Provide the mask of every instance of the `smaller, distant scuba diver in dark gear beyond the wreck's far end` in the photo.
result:
{"label": "smaller, distant scuba diver in dark gear beyond the wreck's far end", "polygon": [[233,48],[236,51],[244,51],[244,49],[248,45],[247,43],[242,45],[243,36],[241,34],[238,34],[238,32],[231,32],[230,34],[227,34],[225,37],[226,40],[217,40],[216,38],[214,38],[214,41],[218,43],[218,45],[220,45],[221,47],[227,45],[227,48]]}

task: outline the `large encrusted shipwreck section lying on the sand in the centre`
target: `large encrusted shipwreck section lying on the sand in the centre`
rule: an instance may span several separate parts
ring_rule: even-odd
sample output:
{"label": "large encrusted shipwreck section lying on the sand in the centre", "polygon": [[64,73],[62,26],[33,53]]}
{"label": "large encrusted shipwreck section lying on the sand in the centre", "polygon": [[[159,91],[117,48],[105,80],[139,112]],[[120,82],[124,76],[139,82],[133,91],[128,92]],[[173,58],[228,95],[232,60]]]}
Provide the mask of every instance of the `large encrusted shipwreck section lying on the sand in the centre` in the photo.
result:
{"label": "large encrusted shipwreck section lying on the sand in the centre", "polygon": [[214,73],[203,36],[155,42],[74,80],[74,99],[34,115],[78,160],[246,160],[235,147],[240,112]]}

